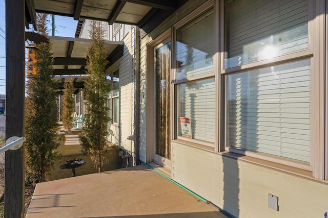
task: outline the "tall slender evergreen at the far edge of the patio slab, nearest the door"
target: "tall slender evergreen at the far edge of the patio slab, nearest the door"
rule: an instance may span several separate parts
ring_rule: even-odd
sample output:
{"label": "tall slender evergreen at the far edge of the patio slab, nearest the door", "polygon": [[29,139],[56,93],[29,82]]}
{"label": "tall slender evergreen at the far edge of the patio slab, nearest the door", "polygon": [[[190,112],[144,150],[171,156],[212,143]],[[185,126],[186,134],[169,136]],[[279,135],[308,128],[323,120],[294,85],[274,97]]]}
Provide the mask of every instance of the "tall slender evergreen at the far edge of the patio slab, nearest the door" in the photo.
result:
{"label": "tall slender evergreen at the far edge of the patio slab, nearest the door", "polygon": [[101,22],[93,22],[92,47],[88,51],[88,77],[85,79],[86,119],[83,133],[79,135],[82,151],[91,157],[98,172],[104,163],[103,151],[106,147],[107,125],[109,122],[107,95],[110,84],[105,79],[108,61]]}

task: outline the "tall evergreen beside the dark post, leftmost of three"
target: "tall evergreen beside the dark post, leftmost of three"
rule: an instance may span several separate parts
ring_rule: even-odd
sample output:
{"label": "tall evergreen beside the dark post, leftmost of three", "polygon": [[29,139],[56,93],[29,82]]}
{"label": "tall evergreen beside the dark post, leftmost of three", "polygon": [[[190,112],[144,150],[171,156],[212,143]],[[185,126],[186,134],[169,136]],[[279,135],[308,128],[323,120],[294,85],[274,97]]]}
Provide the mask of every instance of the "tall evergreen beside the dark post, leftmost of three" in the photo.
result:
{"label": "tall evergreen beside the dark post, leftmost of three", "polygon": [[[47,15],[37,15],[39,33],[46,37]],[[27,82],[25,148],[27,176],[33,182],[44,182],[53,169],[57,152],[56,82],[53,80],[51,44],[35,45],[37,51],[37,77]]]}

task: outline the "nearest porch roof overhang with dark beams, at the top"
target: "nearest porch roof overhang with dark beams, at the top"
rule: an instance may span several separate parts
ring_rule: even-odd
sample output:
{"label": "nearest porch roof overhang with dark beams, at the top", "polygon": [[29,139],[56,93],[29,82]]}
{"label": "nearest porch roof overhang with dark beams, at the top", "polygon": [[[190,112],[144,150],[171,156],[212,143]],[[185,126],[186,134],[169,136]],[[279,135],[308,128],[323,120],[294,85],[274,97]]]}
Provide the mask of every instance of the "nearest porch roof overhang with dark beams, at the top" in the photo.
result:
{"label": "nearest porch roof overhang with dark beams, at the top", "polygon": [[35,27],[35,13],[135,25],[149,33],[188,0],[25,0],[26,27]]}

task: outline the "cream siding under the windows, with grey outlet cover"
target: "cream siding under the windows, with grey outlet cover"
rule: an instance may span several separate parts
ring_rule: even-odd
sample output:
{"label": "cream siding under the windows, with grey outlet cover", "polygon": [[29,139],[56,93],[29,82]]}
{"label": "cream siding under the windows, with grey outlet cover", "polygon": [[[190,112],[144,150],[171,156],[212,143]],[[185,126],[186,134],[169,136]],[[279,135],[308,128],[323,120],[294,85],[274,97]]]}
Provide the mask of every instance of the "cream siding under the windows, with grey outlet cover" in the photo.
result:
{"label": "cream siding under the windows, with grey outlet cover", "polygon": [[[173,179],[237,217],[323,217],[327,184],[172,142]],[[268,207],[268,194],[279,211]]]}

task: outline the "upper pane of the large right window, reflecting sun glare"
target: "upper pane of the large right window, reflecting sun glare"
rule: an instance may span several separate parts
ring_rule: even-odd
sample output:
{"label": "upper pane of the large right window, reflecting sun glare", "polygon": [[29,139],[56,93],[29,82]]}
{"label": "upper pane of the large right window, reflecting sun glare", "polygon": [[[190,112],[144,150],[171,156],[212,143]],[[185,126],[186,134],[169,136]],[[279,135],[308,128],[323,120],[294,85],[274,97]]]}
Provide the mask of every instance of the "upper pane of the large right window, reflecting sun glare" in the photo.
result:
{"label": "upper pane of the large right window, reflecting sun glare", "polygon": [[228,3],[226,68],[308,49],[308,8],[308,0]]}

